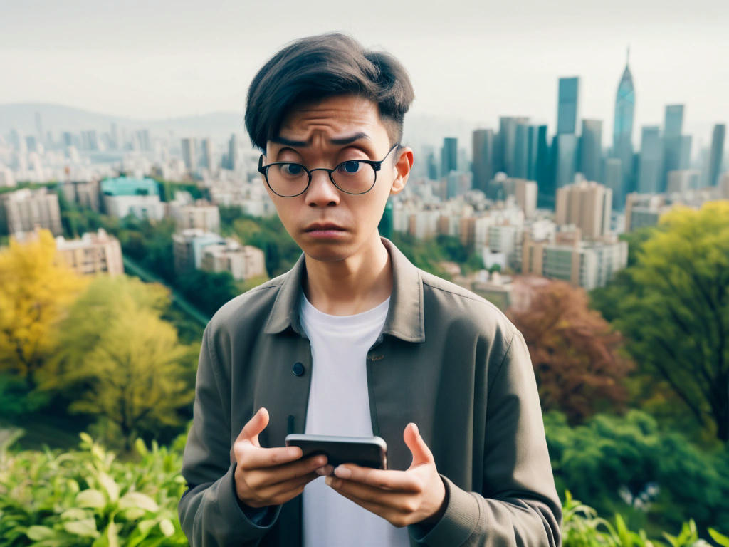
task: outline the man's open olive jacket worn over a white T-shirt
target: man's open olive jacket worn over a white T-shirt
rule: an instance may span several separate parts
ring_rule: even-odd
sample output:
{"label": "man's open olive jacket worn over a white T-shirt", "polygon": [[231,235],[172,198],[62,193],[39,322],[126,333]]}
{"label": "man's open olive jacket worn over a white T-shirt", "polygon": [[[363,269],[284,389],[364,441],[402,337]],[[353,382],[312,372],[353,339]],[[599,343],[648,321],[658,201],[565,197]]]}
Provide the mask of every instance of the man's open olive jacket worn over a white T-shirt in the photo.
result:
{"label": "man's open olive jacket worn over a white T-shirt", "polygon": [[[412,546],[561,544],[537,384],[523,336],[496,306],[416,268],[383,238],[393,290],[367,354],[373,432],[391,469],[407,469],[408,422],[435,458],[447,505],[434,527],[411,526]],[[261,406],[261,446],[304,432],[311,347],[298,317],[303,256],[291,271],[225,304],[206,327],[179,503],[193,547],[301,544],[300,497],[254,522],[235,494],[233,442]]]}

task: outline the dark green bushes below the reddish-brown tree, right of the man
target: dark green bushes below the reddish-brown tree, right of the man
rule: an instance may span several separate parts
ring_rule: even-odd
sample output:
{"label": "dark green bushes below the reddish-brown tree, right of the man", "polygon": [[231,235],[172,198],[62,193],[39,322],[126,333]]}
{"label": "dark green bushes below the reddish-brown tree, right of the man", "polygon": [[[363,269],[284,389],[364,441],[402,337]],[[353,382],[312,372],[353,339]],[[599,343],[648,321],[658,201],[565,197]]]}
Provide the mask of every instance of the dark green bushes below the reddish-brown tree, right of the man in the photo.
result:
{"label": "dark green bushes below the reddish-brown tree, right of the man", "polygon": [[545,432],[559,491],[569,487],[633,526],[677,527],[690,511],[703,527],[729,529],[727,451],[701,451],[636,410],[579,427],[550,412]]}

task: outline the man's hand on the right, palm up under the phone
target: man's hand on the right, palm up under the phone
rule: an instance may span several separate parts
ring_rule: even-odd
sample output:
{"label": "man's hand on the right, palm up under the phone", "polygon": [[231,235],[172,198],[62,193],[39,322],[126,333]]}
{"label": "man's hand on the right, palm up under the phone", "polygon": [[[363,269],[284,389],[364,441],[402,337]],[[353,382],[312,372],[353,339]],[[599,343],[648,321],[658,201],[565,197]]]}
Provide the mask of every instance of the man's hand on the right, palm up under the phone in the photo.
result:
{"label": "man's hand on the right, palm up under the phone", "polygon": [[445,509],[443,480],[418,426],[408,424],[402,436],[413,454],[408,470],[385,471],[348,463],[338,466],[335,476],[327,477],[327,484],[394,526],[434,524]]}

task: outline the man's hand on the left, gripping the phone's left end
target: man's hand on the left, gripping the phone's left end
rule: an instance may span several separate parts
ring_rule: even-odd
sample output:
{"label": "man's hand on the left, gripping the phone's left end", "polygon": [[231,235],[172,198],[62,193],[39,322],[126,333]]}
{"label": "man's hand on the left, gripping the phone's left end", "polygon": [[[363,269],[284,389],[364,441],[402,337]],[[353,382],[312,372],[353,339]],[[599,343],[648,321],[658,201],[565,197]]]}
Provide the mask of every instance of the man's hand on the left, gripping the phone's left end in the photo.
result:
{"label": "man's hand on the left, gripping the phone's left end", "polygon": [[300,459],[298,446],[262,449],[258,434],[268,425],[268,411],[260,408],[235,439],[233,453],[235,493],[249,507],[281,505],[296,497],[304,486],[324,473],[327,457]]}

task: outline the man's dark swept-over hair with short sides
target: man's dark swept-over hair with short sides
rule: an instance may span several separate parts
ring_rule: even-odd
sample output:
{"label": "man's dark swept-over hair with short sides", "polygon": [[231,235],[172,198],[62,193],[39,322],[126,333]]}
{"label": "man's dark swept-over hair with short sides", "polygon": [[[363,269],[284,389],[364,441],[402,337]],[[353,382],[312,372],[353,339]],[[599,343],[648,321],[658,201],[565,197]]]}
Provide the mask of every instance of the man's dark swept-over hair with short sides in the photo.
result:
{"label": "man's dark swept-over hair with short sides", "polygon": [[246,129],[265,152],[293,107],[348,94],[377,103],[391,144],[402,139],[415,96],[407,71],[392,55],[365,50],[344,34],[308,36],[273,55],[248,89]]}

